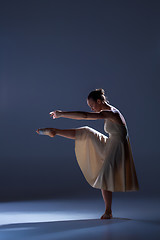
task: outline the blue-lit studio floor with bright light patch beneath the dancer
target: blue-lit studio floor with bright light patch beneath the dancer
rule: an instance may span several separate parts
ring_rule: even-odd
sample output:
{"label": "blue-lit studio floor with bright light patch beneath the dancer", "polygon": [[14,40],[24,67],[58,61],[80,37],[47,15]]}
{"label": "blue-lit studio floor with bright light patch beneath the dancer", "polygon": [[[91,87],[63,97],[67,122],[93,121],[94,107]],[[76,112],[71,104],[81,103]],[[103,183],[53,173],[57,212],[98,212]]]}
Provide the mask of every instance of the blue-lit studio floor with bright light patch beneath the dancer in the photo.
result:
{"label": "blue-lit studio floor with bright light patch beneath the dancer", "polygon": [[160,239],[159,198],[113,199],[113,219],[101,220],[102,199],[0,203],[1,240]]}

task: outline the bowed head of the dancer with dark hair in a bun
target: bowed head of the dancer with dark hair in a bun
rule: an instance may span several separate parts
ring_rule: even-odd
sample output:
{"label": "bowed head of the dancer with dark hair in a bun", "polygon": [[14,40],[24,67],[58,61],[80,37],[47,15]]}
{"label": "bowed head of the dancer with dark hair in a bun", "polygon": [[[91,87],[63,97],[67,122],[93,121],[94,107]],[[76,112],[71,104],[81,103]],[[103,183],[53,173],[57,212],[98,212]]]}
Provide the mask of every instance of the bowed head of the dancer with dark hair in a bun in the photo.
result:
{"label": "bowed head of the dancer with dark hair in a bun", "polygon": [[90,92],[87,98],[87,104],[94,112],[100,112],[107,102],[109,103],[102,88]]}

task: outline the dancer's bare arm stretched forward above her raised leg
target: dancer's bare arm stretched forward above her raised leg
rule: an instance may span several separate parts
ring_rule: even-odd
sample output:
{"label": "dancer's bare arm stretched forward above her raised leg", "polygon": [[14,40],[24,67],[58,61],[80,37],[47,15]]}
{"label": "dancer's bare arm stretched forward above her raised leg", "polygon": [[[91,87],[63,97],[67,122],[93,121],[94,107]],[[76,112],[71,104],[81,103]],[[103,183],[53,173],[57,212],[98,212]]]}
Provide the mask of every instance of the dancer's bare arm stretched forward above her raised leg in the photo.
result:
{"label": "dancer's bare arm stretched forward above her raised leg", "polygon": [[114,118],[115,113],[110,110],[105,110],[101,112],[82,112],[82,111],[54,111],[50,112],[50,115],[53,116],[53,119],[64,117],[70,119],[77,119],[77,120],[97,120],[97,119],[105,119],[105,118]]}

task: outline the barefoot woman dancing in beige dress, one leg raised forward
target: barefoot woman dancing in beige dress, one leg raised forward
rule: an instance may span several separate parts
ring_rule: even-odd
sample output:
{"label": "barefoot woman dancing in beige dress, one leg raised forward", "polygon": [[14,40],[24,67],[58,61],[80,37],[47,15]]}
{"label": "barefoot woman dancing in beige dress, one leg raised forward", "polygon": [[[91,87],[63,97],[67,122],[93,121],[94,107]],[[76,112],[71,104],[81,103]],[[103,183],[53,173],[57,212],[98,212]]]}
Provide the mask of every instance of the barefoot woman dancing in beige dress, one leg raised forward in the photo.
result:
{"label": "barefoot woman dancing in beige dress, one leg raised forward", "polygon": [[109,137],[88,126],[76,129],[43,128],[36,132],[75,140],[75,154],[87,182],[101,189],[105,212],[101,219],[112,218],[112,192],[139,189],[126,121],[120,111],[109,104],[103,89],[90,92],[87,104],[94,112],[53,111],[55,118],[97,120],[104,119],[104,130]]}

